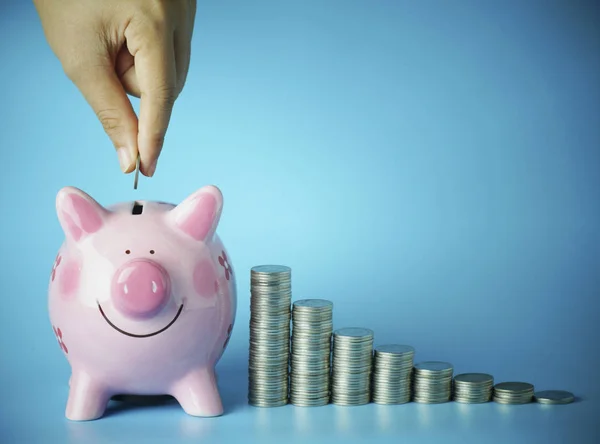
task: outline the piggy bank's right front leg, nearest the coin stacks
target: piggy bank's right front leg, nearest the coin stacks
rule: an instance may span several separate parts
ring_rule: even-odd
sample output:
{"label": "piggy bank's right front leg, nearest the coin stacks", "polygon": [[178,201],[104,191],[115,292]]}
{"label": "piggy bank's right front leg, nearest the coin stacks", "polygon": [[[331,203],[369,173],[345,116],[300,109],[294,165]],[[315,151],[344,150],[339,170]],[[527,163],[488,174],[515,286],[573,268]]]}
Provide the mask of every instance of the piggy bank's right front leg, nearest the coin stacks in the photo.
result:
{"label": "piggy bank's right front leg, nearest the coin stacks", "polygon": [[212,417],[223,414],[215,371],[195,370],[177,381],[171,393],[191,416]]}

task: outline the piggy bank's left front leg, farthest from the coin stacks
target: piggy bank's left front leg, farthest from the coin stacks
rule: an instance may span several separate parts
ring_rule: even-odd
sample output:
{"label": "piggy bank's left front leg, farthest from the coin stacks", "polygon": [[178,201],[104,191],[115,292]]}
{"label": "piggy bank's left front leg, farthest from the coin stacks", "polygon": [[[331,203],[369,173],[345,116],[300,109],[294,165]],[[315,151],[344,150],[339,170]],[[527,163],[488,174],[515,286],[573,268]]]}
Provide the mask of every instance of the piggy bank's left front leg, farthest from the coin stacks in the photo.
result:
{"label": "piggy bank's left front leg, farthest from the coin stacks", "polygon": [[98,419],[106,410],[110,395],[102,384],[86,372],[73,372],[69,380],[69,399],[65,416],[72,421]]}

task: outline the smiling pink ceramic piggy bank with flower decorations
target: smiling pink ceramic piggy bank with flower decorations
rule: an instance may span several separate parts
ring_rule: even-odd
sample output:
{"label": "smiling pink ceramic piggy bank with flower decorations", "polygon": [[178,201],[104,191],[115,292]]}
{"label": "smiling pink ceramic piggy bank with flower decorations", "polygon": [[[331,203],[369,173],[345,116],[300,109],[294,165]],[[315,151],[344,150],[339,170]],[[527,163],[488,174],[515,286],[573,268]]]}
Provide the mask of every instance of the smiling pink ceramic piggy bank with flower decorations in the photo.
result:
{"label": "smiling pink ceramic piggy bank with flower decorations", "polygon": [[215,233],[223,198],[104,208],[76,188],[56,199],[66,239],[49,284],[50,320],[71,366],[66,416],[101,417],[113,395],[172,395],[193,416],[223,413],[215,365],[236,314]]}

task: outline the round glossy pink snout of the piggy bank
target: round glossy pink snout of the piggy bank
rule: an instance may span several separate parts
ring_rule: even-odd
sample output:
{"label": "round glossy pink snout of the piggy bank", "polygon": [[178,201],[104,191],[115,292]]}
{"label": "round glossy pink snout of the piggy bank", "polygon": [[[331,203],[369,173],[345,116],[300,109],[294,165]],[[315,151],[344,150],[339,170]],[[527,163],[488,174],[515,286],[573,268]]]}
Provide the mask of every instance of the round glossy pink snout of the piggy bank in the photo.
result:
{"label": "round glossy pink snout of the piggy bank", "polygon": [[132,260],[113,277],[111,298],[115,308],[126,316],[152,316],[164,307],[169,296],[169,276],[156,262]]}

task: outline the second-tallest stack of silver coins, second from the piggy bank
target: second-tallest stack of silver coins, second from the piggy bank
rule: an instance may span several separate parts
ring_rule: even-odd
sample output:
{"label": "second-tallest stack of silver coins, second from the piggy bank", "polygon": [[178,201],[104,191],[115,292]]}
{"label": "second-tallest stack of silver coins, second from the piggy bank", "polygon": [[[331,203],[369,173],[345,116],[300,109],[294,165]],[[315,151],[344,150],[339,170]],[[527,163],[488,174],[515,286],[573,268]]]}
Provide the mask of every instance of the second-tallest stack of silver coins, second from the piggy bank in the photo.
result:
{"label": "second-tallest stack of silver coins, second from the piggy bank", "polygon": [[329,404],[333,303],[323,299],[294,302],[290,403],[303,407]]}

